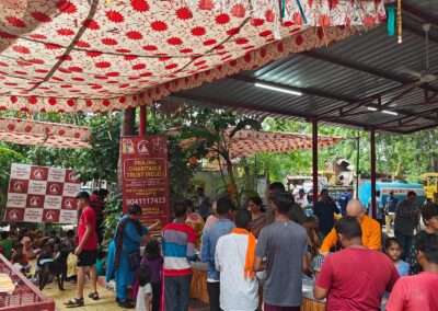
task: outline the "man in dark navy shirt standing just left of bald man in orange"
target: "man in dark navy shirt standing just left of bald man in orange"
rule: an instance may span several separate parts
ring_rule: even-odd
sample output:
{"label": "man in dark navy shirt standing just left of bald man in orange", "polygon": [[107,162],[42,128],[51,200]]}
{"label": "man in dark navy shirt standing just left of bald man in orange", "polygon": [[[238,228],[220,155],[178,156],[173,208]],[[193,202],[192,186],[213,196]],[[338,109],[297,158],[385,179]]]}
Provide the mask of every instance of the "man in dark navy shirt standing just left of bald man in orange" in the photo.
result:
{"label": "man in dark navy shirt standing just left of bald man in orange", "polygon": [[330,199],[328,191],[321,191],[321,200],[313,207],[313,214],[320,219],[319,231],[325,237],[335,226],[335,214],[339,214],[336,204]]}

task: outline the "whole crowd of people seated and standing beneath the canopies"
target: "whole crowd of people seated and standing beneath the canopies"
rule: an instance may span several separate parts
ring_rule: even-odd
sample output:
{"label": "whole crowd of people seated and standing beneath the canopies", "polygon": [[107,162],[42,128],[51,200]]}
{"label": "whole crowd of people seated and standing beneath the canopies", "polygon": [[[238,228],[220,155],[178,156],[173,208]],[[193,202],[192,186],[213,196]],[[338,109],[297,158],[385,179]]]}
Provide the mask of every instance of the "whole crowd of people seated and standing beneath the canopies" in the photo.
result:
{"label": "whole crowd of people seated and standing beneath the canopies", "polygon": [[[62,280],[77,283],[69,308],[84,306],[88,275],[89,299],[100,299],[96,280],[105,276],[108,286],[115,283],[122,308],[188,310],[192,262],[201,261],[208,267],[205,287],[214,311],[300,310],[303,279],[314,283],[315,299],[326,298],[326,310],[380,310],[382,298],[388,298],[389,311],[438,310],[438,206],[419,206],[415,193],[401,201],[390,194],[383,222],[368,216],[350,194],[338,209],[326,189],[312,216],[304,212],[302,194],[293,197],[281,183],[270,184],[266,206],[254,196],[240,209],[229,195],[211,205],[199,189],[197,203],[173,205],[173,221],[159,239],[149,233],[160,222],[145,227],[141,208],[130,206],[107,250],[97,251],[106,195],[77,196],[77,232],[60,237],[11,228],[0,234],[0,252],[30,278],[43,278],[43,288],[45,265],[62,263]],[[390,238],[382,230],[392,222],[395,237]]]}

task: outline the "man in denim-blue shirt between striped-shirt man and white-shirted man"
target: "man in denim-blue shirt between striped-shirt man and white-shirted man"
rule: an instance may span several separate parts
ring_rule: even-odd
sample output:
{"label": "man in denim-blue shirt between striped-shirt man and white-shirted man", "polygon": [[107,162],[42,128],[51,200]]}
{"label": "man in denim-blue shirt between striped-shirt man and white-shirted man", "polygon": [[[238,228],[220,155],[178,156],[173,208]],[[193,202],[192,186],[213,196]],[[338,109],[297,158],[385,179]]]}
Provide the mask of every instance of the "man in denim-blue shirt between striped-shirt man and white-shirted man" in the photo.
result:
{"label": "man in denim-blue shirt between striped-shirt man and white-shirted man", "polygon": [[201,239],[200,260],[208,263],[207,291],[210,298],[210,310],[219,311],[220,284],[219,272],[216,270],[215,253],[220,237],[231,233],[235,224],[230,220],[234,210],[234,204],[230,198],[222,197],[216,201],[218,220],[208,227]]}

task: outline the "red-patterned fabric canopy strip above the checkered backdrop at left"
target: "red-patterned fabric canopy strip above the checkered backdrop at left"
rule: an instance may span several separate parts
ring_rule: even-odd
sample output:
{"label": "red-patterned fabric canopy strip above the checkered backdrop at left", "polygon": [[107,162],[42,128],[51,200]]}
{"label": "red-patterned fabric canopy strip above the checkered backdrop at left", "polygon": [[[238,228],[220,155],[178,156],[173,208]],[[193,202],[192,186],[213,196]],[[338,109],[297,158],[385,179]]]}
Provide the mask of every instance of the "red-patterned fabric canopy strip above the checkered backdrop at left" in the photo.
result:
{"label": "red-patterned fabric canopy strip above the checkered backdrop at left", "polygon": [[91,148],[91,130],[83,126],[0,117],[0,140],[53,148]]}

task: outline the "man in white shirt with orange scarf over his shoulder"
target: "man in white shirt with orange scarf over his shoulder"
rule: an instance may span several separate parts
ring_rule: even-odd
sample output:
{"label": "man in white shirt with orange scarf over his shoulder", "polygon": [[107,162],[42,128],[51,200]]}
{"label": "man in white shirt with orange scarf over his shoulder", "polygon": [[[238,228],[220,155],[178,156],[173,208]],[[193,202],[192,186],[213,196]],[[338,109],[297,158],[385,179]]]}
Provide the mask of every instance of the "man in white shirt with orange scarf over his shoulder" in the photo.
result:
{"label": "man in white shirt with orange scarf over his shoulder", "polygon": [[219,239],[216,246],[216,269],[220,272],[220,309],[224,311],[257,310],[258,283],[253,270],[255,237],[247,231],[249,210],[239,210],[237,228]]}

